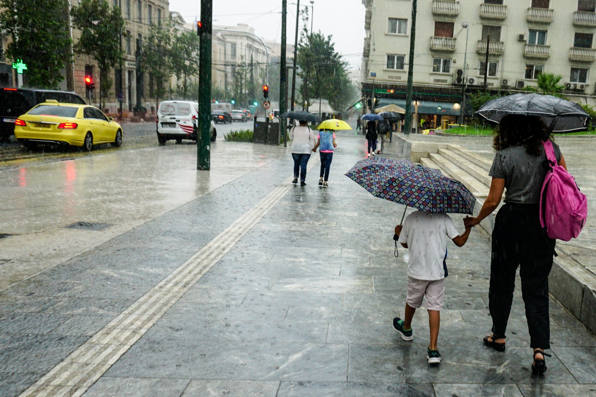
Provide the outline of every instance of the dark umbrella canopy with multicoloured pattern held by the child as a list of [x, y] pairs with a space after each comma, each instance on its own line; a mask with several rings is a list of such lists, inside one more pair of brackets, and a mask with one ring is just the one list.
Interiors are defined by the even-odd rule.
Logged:
[[467, 213], [476, 198], [439, 170], [405, 161], [390, 166], [361, 160], [346, 175], [375, 197], [433, 213]]

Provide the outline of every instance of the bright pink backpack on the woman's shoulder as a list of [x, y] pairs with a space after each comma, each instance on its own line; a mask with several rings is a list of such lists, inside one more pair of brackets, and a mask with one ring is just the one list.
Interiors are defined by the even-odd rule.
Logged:
[[548, 237], [569, 241], [578, 237], [586, 224], [588, 200], [573, 176], [557, 164], [551, 140], [542, 144], [551, 168], [540, 194], [540, 224], [547, 228]]

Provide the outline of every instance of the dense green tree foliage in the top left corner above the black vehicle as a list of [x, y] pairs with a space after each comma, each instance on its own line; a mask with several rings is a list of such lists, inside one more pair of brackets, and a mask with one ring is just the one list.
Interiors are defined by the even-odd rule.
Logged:
[[0, 29], [13, 38], [7, 57], [27, 64], [27, 85], [58, 88], [72, 59], [68, 0], [0, 0]]

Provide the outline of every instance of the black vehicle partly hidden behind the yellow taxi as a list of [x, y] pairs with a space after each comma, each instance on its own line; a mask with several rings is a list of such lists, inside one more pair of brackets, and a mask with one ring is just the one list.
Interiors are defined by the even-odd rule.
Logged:
[[14, 122], [21, 114], [45, 100], [84, 105], [83, 98], [74, 92], [49, 89], [0, 88], [0, 142], [8, 141], [14, 134]]

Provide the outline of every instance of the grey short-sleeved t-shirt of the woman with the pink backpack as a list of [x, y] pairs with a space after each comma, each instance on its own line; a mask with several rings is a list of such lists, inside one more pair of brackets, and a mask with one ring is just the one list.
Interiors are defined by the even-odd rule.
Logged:
[[[552, 142], [557, 162], [561, 160], [561, 150]], [[534, 156], [523, 146], [510, 146], [495, 154], [489, 175], [505, 179], [505, 203], [538, 204], [542, 183], [547, 169], [542, 163], [547, 159], [544, 149], [540, 156]]]

